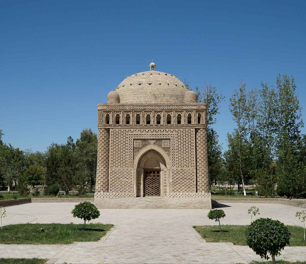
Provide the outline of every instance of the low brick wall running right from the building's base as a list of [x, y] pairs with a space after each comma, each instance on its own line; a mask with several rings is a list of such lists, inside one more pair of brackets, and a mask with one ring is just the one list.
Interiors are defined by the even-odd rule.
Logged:
[[284, 198], [224, 198], [211, 200], [212, 207], [220, 207], [218, 204], [226, 203], [285, 204], [306, 208], [306, 200], [289, 200]]

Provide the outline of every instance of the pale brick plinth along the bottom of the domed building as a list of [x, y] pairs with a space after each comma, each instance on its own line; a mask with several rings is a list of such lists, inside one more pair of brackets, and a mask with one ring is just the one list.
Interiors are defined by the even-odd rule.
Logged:
[[[119, 197], [118, 197], [119, 196]], [[96, 193], [99, 209], [211, 209], [210, 193], [167, 193], [156, 197], [136, 194]]]

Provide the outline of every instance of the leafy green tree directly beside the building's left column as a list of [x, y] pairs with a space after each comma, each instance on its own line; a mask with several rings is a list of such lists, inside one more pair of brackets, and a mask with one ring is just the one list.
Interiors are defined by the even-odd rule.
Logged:
[[86, 128], [81, 132], [80, 139], [76, 140], [73, 153], [77, 162], [76, 170], [84, 173], [92, 189], [92, 186], [95, 185], [97, 171], [98, 138], [91, 128]]

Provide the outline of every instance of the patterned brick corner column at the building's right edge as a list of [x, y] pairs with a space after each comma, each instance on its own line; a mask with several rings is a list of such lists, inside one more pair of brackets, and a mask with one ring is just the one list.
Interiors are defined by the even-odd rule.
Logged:
[[207, 193], [209, 186], [209, 179], [208, 179], [206, 128], [196, 128], [196, 177], [197, 177], [197, 192]]

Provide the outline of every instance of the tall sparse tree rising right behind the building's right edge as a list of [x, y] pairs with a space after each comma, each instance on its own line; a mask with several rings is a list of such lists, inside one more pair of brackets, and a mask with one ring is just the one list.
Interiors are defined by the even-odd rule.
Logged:
[[[189, 88], [188, 83], [187, 87]], [[219, 166], [218, 163], [222, 154], [222, 147], [218, 141], [219, 135], [213, 128], [213, 125], [217, 122], [217, 115], [220, 114], [220, 105], [225, 97], [222, 93], [217, 92], [216, 87], [212, 87], [206, 83], [202, 90], [196, 87], [196, 93], [198, 103], [207, 103], [207, 158], [211, 184], [211, 182], [214, 182], [218, 177], [218, 170], [216, 170], [216, 168]]]

